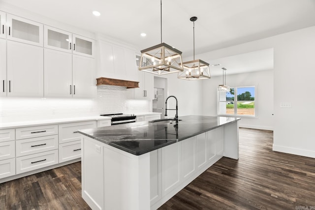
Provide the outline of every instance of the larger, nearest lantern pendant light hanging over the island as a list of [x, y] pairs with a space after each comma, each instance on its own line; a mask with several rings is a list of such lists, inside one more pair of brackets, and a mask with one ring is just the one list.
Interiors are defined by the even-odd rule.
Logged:
[[162, 43], [162, 0], [161, 0], [161, 43], [141, 50], [140, 71], [163, 75], [183, 71], [182, 52]]

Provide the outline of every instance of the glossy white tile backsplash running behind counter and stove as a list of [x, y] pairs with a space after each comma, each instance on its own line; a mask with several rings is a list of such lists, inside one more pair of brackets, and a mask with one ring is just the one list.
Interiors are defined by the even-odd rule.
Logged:
[[0, 122], [152, 112], [152, 101], [128, 99], [130, 91], [118, 86], [97, 86], [95, 99], [0, 98]]

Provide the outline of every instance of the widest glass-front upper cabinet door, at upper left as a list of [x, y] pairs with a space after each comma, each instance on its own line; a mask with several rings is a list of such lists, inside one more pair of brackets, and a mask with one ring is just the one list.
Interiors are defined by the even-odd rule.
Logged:
[[24, 19], [11, 14], [7, 18], [7, 39], [43, 46], [43, 24]]

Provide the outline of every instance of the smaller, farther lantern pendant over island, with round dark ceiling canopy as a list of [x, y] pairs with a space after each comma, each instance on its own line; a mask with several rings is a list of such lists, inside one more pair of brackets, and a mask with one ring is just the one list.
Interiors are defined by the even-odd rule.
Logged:
[[195, 21], [197, 17], [191, 17], [193, 22], [193, 60], [183, 62], [184, 72], [178, 73], [179, 79], [184, 80], [201, 80], [210, 78], [209, 63], [203, 60], [195, 60]]

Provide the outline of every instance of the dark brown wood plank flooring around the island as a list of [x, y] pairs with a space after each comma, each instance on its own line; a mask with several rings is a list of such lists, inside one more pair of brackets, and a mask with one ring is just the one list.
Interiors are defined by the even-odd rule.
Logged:
[[[221, 158], [159, 209], [315, 209], [314, 158], [272, 151], [271, 131], [239, 134], [239, 160]], [[0, 210], [71, 209], [90, 209], [81, 162], [0, 184]]]

